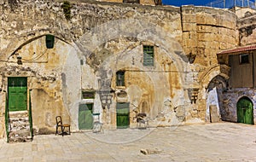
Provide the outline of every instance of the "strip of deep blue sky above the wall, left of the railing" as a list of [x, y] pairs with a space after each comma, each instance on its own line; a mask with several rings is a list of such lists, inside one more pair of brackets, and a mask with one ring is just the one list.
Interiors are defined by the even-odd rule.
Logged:
[[162, 0], [164, 4], [173, 6], [181, 6], [187, 4], [194, 4], [195, 6], [205, 6], [207, 3], [211, 3], [214, 0]]

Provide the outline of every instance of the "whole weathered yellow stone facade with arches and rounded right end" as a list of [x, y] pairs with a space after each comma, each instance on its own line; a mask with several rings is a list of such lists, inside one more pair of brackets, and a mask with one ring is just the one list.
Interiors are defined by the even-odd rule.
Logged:
[[[93, 103], [104, 128], [116, 128], [116, 105], [130, 103], [152, 126], [207, 119], [207, 87], [220, 73], [216, 54], [236, 47], [236, 14], [224, 9], [70, 1], [1, 1], [1, 136], [9, 77], [26, 77], [34, 134], [55, 131], [61, 115], [79, 130], [79, 105]], [[46, 35], [55, 36], [53, 49]], [[154, 66], [143, 66], [143, 45]], [[22, 65], [17, 64], [21, 57]], [[116, 86], [116, 72], [125, 86]], [[82, 91], [95, 91], [82, 99]]]

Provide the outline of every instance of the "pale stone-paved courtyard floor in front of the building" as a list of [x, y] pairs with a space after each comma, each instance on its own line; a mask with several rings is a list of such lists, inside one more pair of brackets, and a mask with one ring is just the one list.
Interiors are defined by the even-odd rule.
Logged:
[[[256, 161], [256, 126], [218, 123], [84, 131], [0, 144], [1, 161]], [[141, 149], [160, 153], [145, 155]]]

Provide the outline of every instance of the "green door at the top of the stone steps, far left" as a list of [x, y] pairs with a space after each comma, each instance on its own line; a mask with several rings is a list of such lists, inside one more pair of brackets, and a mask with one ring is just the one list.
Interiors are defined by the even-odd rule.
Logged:
[[27, 79], [25, 77], [8, 78], [9, 111], [23, 111], [27, 107]]

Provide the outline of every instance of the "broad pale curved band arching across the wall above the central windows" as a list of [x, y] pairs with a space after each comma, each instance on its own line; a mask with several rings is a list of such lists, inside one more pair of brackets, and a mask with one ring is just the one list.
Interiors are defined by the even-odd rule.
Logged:
[[[124, 26], [138, 26], [137, 28], [129, 28]], [[157, 36], [157, 37], [155, 37]], [[184, 54], [182, 46], [175, 39], [175, 35], [167, 32], [164, 28], [157, 26], [148, 20], [113, 20], [96, 26], [82, 36], [77, 42], [77, 45], [84, 55], [93, 54], [94, 49], [102, 43], [108, 42], [115, 38], [137, 38], [141, 41], [148, 41], [150, 43], [161, 46], [168, 51], [173, 63], [177, 67], [178, 72], [181, 73], [181, 80], [184, 83], [186, 74], [184, 71], [189, 70], [187, 55]], [[94, 41], [92, 42], [92, 38]], [[171, 43], [171, 45], [170, 45]], [[175, 47], [175, 48], [173, 48]]]

